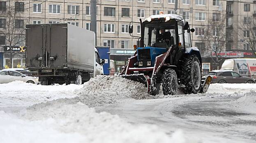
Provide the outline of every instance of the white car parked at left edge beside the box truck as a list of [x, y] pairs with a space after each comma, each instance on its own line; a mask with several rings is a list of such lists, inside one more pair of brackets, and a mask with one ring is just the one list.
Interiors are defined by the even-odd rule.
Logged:
[[38, 78], [32, 76], [25, 76], [18, 71], [14, 70], [1, 70], [0, 71], [0, 83], [10, 83], [12, 81], [20, 80], [25, 83], [39, 84]]

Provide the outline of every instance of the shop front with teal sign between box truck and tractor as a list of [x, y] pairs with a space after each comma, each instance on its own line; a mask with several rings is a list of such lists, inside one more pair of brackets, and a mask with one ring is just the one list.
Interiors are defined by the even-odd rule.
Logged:
[[120, 73], [122, 67], [128, 61], [128, 58], [133, 56], [135, 50], [133, 49], [110, 49], [110, 59], [114, 61], [113, 67], [115, 68], [115, 73]]

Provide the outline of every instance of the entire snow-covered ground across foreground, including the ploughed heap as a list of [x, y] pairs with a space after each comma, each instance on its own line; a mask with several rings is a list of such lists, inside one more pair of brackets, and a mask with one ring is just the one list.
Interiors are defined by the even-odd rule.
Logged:
[[206, 94], [176, 96], [145, 90], [113, 76], [82, 86], [1, 84], [0, 141], [256, 143], [256, 84], [212, 84]]

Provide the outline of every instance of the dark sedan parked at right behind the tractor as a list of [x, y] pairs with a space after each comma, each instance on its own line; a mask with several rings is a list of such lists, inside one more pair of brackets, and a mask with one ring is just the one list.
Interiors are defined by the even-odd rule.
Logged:
[[[231, 70], [214, 70], [210, 71], [208, 76], [212, 77], [211, 83], [256, 83], [254, 78], [240, 76], [240, 74]], [[202, 77], [202, 80], [206, 76]]]

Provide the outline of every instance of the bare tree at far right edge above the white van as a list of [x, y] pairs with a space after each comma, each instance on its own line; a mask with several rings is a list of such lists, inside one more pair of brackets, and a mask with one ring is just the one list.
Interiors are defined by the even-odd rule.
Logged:
[[[252, 20], [251, 20], [252, 19]], [[251, 50], [256, 57], [256, 24], [253, 17], [244, 17], [240, 23], [239, 33], [243, 36], [244, 50]]]

